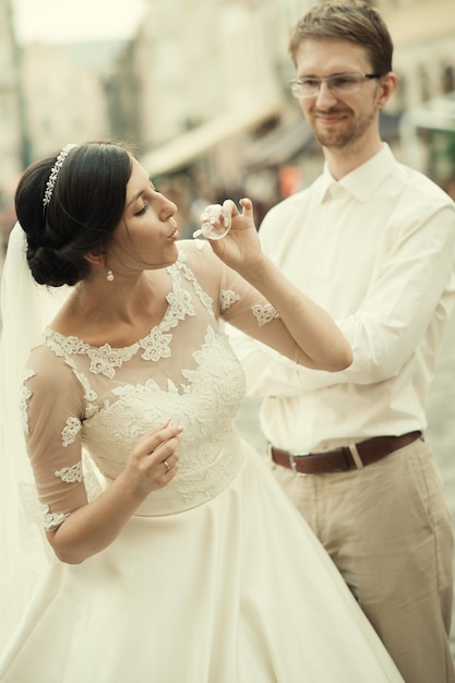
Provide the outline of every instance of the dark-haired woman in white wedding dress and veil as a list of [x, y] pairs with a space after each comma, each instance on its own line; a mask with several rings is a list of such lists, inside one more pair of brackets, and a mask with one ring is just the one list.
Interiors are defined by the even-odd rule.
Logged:
[[[221, 321], [298, 364], [350, 349], [262, 254], [216, 242], [133, 153], [68, 145], [16, 192], [3, 269], [3, 683], [399, 683], [302, 517], [236, 431]], [[25, 455], [27, 453], [27, 457]]]

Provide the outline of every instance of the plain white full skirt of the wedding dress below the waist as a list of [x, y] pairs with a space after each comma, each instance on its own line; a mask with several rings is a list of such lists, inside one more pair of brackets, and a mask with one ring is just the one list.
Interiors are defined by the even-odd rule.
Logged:
[[0, 658], [2, 683], [398, 683], [372, 626], [260, 456], [216, 498], [134, 516], [57, 560]]

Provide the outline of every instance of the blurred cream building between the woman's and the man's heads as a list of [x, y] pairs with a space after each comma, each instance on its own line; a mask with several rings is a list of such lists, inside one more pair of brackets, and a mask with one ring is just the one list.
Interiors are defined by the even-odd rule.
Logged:
[[[154, 177], [243, 180], [243, 152], [280, 116], [275, 0], [149, 0], [116, 73], [118, 100]], [[166, 31], [163, 27], [166, 26]], [[118, 105], [116, 104], [117, 108]]]

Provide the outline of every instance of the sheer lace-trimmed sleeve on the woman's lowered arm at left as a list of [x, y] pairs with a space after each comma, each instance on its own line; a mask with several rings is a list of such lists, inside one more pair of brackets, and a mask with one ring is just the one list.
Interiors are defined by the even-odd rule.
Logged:
[[23, 428], [46, 530], [87, 502], [82, 470], [84, 396], [48, 348], [32, 351], [23, 384]]

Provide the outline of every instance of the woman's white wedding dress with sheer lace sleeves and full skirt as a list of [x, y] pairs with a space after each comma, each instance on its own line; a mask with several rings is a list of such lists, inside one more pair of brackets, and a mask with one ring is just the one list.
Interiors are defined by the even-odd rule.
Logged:
[[328, 555], [236, 431], [243, 373], [218, 314], [265, 339], [273, 309], [205, 242], [182, 243], [167, 273], [167, 312], [136, 344], [95, 348], [47, 328], [32, 352], [22, 408], [46, 528], [108, 487], [153, 426], [184, 429], [177, 476], [111, 546], [77, 565], [47, 558], [0, 681], [399, 683]]

